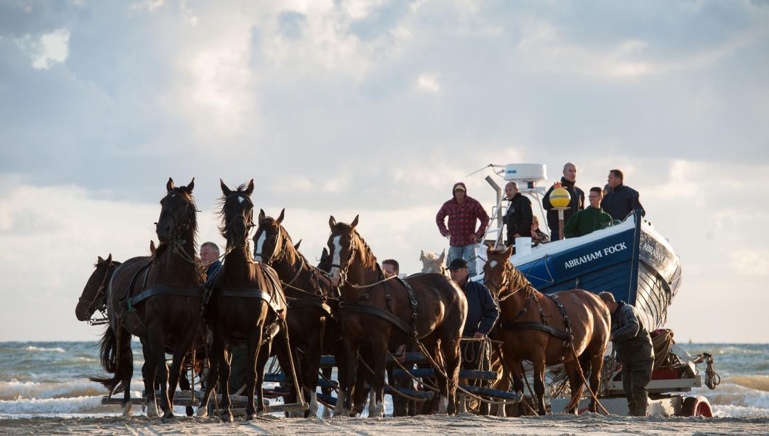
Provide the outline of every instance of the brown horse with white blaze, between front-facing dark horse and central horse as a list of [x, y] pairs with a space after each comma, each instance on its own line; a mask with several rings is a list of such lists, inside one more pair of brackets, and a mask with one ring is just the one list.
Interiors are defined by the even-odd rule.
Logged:
[[304, 358], [297, 356], [301, 372], [301, 388], [309, 396], [310, 408], [305, 416], [318, 414], [318, 368], [324, 346], [328, 348], [338, 336], [333, 311], [338, 304], [331, 281], [320, 269], [311, 266], [299, 253], [299, 243], [281, 224], [285, 209], [277, 219], [260, 210], [254, 233], [254, 258], [275, 269], [288, 300], [288, 337]]

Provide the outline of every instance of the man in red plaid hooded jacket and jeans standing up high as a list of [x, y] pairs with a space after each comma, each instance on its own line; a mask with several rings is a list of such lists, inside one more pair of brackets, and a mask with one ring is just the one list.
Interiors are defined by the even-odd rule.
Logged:
[[[465, 259], [469, 262], [470, 276], [475, 275], [475, 244], [483, 239], [488, 226], [488, 214], [481, 203], [468, 197], [468, 188], [464, 183], [454, 183], [451, 189], [452, 198], [443, 203], [435, 222], [442, 236], [449, 236], [448, 263], [454, 259]], [[448, 229], [444, 220], [448, 216]], [[481, 221], [481, 226], [475, 230], [475, 221]]]

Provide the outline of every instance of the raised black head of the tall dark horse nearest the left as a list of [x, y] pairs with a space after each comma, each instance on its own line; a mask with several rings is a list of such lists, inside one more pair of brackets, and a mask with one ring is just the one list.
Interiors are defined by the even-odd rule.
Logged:
[[155, 224], [155, 233], [161, 243], [173, 243], [185, 231], [197, 230], [198, 223], [195, 220], [197, 210], [195, 200], [192, 198], [194, 187], [195, 177], [187, 186], [181, 187], [174, 187], [174, 180], [168, 177], [168, 183], [165, 185], [167, 192], [160, 200], [160, 218]]

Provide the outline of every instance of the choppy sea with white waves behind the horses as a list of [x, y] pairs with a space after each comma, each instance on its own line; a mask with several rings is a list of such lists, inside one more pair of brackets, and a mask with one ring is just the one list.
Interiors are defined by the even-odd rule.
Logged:
[[[141, 345], [133, 344], [131, 395], [141, 396]], [[721, 385], [695, 388], [719, 417], [769, 417], [769, 344], [681, 344], [691, 355], [714, 355]], [[704, 373], [704, 365], [700, 365]], [[102, 405], [103, 375], [96, 342], [0, 342], [0, 419], [35, 416], [75, 418], [120, 415], [118, 405]], [[389, 399], [389, 398], [388, 398]], [[390, 407], [388, 407], [391, 410]], [[183, 408], [175, 408], [183, 415]], [[134, 407], [141, 414], [141, 407]]]

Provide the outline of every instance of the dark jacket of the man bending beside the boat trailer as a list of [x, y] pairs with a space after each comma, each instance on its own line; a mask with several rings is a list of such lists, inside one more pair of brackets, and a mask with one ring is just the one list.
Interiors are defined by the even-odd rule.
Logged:
[[611, 314], [611, 335], [620, 362], [631, 363], [654, 358], [651, 335], [644, 327], [638, 311], [624, 301], [617, 303]]

